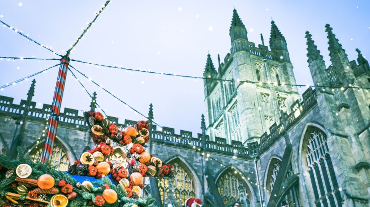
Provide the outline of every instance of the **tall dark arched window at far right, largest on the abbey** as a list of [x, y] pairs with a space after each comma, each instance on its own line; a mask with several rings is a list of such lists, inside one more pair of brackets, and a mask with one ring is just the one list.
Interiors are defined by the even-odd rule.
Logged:
[[311, 181], [316, 206], [342, 206], [338, 182], [326, 143], [326, 134], [311, 129], [306, 147], [306, 163], [308, 177]]

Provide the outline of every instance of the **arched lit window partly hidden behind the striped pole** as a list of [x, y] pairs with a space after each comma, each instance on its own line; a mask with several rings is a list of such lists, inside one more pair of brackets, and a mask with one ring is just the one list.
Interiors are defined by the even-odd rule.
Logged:
[[[42, 146], [39, 144], [30, 153], [33, 162], [41, 161]], [[52, 166], [59, 166], [56, 169], [59, 171], [68, 171], [69, 158], [65, 151], [59, 146], [59, 143], [54, 143], [53, 154], [51, 155], [50, 163]]]

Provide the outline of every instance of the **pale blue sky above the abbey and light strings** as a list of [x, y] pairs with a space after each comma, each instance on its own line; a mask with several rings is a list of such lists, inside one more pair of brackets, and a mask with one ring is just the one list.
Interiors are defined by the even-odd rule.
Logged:
[[[29, 34], [43, 45], [64, 55], [94, 19], [105, 1], [5, 1], [0, 20]], [[331, 63], [327, 51], [325, 24], [330, 24], [349, 60], [357, 58], [355, 48], [370, 57], [369, 1], [118, 1], [112, 0], [85, 38], [70, 55], [71, 59], [117, 65], [125, 68], [202, 76], [207, 53], [217, 67], [230, 52], [229, 28], [234, 7], [248, 30], [248, 39], [268, 45], [271, 18], [284, 35], [298, 84], [312, 84], [307, 63], [306, 30]], [[58, 58], [26, 38], [0, 28], [0, 56]], [[369, 58], [367, 58], [369, 59]], [[2, 60], [0, 85], [55, 65], [58, 61]], [[147, 115], [154, 105], [160, 125], [199, 133], [200, 116], [205, 112], [203, 81], [179, 77], [131, 73], [119, 69], [97, 68], [71, 62], [93, 80], [127, 104]], [[37, 103], [51, 104], [57, 68], [35, 76]], [[62, 108], [88, 110], [90, 97], [75, 78], [66, 79]], [[84, 81], [90, 92], [98, 93], [98, 103], [110, 116], [141, 120], [101, 88]], [[25, 99], [30, 81], [0, 91], [0, 95]], [[305, 88], [300, 89], [300, 93]], [[38, 105], [37, 105], [38, 106]], [[41, 108], [42, 106], [38, 106]], [[196, 136], [194, 134], [194, 136]]]

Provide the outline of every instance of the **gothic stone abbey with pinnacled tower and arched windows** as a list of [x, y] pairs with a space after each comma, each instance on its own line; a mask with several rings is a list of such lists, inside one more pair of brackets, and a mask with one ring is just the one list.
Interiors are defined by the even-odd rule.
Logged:
[[[153, 126], [150, 152], [178, 171], [171, 180], [147, 180], [147, 191], [161, 197], [158, 206], [182, 206], [188, 197], [215, 207], [236, 200], [243, 206], [370, 206], [370, 92], [363, 88], [370, 87], [370, 67], [358, 49], [357, 62], [349, 61], [325, 27], [329, 67], [306, 32], [314, 84], [325, 87], [308, 88], [301, 98], [275, 23], [270, 50], [263, 38], [256, 47], [234, 10], [230, 53], [223, 63], [218, 56], [218, 68], [209, 54], [206, 60], [203, 134]], [[14, 157], [19, 145], [40, 159], [50, 105], [36, 108], [34, 91], [35, 81], [20, 104], [0, 96], [1, 153]], [[136, 123], [108, 118], [121, 129]], [[88, 130], [78, 110], [60, 114], [52, 154], [59, 170], [93, 145]], [[115, 149], [108, 159], [123, 159], [127, 149]]]

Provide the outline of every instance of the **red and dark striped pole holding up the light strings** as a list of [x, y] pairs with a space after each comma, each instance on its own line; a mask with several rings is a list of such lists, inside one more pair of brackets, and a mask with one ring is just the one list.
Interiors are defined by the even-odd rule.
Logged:
[[59, 67], [58, 78], [56, 80], [56, 86], [54, 91], [53, 103], [51, 105], [51, 113], [49, 118], [49, 125], [47, 127], [45, 146], [42, 150], [41, 162], [50, 159], [53, 153], [54, 140], [56, 135], [56, 128], [58, 127], [59, 112], [61, 106], [61, 100], [63, 97], [64, 83], [68, 70], [69, 58], [63, 57]]

